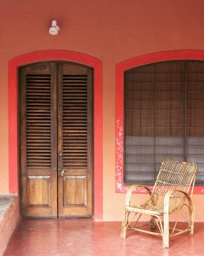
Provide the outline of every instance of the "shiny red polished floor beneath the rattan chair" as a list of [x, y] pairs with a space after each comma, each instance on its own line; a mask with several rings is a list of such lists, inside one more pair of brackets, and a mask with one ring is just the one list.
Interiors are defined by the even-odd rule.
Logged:
[[195, 224], [195, 235], [174, 237], [170, 248], [161, 238], [129, 233], [120, 238], [121, 223], [92, 219], [22, 219], [3, 256], [137, 256], [204, 255], [204, 224]]

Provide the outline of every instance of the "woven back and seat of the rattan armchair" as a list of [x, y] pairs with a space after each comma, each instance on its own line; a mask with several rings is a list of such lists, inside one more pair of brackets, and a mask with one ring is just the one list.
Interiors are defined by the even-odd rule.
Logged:
[[[192, 194], [197, 165], [175, 160], [164, 160], [156, 177], [156, 183], [150, 196], [151, 208], [161, 211], [164, 207], [164, 196], [170, 189], [182, 190]], [[170, 212], [175, 211], [183, 204], [184, 195], [174, 192], [170, 200]]]

